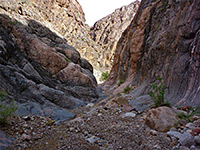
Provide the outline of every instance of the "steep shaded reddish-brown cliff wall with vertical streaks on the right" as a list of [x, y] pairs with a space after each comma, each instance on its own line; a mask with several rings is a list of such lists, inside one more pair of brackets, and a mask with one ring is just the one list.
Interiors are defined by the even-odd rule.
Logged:
[[143, 0], [116, 48], [102, 85], [114, 93], [126, 86], [147, 94], [161, 76], [172, 104], [200, 104], [200, 1]]

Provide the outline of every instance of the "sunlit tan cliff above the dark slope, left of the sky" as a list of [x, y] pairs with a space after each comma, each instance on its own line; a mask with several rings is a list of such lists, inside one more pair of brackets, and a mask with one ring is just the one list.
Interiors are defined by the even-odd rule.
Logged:
[[2, 0], [0, 5], [2, 14], [12, 18], [18, 17], [18, 20], [37, 20], [60, 37], [67, 39], [67, 43], [92, 64], [97, 79], [102, 71], [111, 67], [106, 64], [105, 58], [101, 57], [101, 46], [90, 38], [90, 28], [85, 24], [85, 15], [77, 0]]

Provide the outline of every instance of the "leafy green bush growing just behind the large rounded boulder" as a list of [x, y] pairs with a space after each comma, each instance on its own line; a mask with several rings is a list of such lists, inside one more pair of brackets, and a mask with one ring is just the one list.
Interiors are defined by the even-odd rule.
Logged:
[[165, 86], [162, 78], [158, 77], [158, 84], [152, 84], [152, 91], [149, 92], [149, 96], [154, 101], [155, 107], [170, 106], [169, 102], [165, 102]]

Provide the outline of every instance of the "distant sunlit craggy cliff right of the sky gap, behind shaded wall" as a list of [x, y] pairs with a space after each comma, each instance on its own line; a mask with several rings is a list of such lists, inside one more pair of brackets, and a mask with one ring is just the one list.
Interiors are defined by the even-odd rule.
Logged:
[[117, 42], [124, 30], [133, 20], [140, 2], [135, 1], [127, 6], [118, 8], [112, 14], [97, 21], [90, 29], [92, 39], [103, 47], [106, 64], [112, 67]]

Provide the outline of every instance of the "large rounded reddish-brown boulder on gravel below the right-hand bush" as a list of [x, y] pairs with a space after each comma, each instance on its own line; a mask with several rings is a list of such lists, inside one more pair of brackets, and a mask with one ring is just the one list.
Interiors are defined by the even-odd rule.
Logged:
[[145, 123], [160, 132], [169, 131], [177, 122], [177, 114], [170, 107], [158, 107], [150, 109], [145, 118]]

